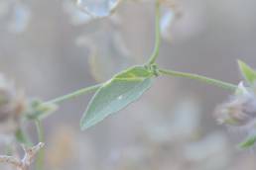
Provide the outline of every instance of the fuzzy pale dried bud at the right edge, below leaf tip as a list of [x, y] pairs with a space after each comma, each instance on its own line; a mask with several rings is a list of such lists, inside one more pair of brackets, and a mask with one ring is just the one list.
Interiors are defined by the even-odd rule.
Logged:
[[216, 116], [220, 124], [243, 131], [246, 138], [239, 143], [240, 148], [252, 147], [256, 142], [256, 86], [245, 88], [239, 84], [231, 100], [218, 107]]

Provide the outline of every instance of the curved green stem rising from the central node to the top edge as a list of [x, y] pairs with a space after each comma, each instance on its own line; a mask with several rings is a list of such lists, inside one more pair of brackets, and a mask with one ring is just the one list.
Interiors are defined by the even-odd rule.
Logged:
[[148, 61], [148, 65], [152, 65], [156, 62], [157, 57], [159, 56], [159, 48], [161, 43], [161, 35], [160, 35], [160, 2], [156, 0], [156, 21], [155, 21], [155, 47], [153, 53], [150, 56]]

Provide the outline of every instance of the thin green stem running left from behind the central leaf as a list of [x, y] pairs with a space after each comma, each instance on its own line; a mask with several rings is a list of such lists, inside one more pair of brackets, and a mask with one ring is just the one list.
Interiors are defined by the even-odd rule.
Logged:
[[58, 97], [56, 99], [53, 99], [51, 101], [48, 101], [46, 103], [52, 103], [52, 104], [60, 104], [66, 100], [69, 100], [69, 99], [73, 99], [73, 98], [76, 98], [78, 96], [81, 96], [81, 95], [85, 95], [87, 93], [90, 93], [90, 92], [94, 92], [96, 91], [98, 88], [100, 88], [102, 86], [102, 84], [97, 84], [97, 85], [94, 85], [94, 86], [90, 86], [90, 87], [85, 87], [85, 88], [82, 88], [82, 89], [79, 89], [77, 91], [74, 91], [74, 92], [71, 92], [69, 94], [66, 94], [64, 96], [61, 96], [61, 97]]

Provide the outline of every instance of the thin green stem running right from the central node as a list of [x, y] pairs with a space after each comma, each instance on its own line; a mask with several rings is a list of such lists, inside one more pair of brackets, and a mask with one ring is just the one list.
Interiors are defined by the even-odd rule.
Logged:
[[207, 84], [215, 85], [224, 89], [228, 89], [231, 91], [235, 91], [237, 86], [223, 82], [221, 80], [216, 80], [212, 78], [208, 78], [205, 76], [197, 75], [197, 74], [192, 74], [192, 73], [187, 73], [187, 72], [180, 72], [180, 71], [173, 71], [173, 70], [166, 70], [166, 69], [159, 69], [158, 70], [160, 73], [165, 74], [165, 75], [171, 75], [171, 76], [176, 76], [176, 77], [185, 77], [185, 78], [190, 78], [193, 80], [198, 80]]

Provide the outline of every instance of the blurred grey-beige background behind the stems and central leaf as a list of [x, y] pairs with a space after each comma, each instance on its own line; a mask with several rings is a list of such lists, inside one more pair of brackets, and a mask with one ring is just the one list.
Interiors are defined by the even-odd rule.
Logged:
[[[158, 63], [238, 83], [236, 59], [256, 67], [254, 0], [177, 0], [180, 17]], [[143, 63], [154, 45], [152, 1], [124, 1], [111, 18], [88, 22], [68, 0], [0, 0], [0, 71], [30, 97], [50, 100]], [[170, 35], [169, 35], [170, 36]], [[160, 77], [138, 102], [86, 131], [87, 95], [44, 122], [47, 169], [253, 170], [238, 132], [213, 118], [230, 92]], [[35, 127], [27, 127], [37, 136]]]

